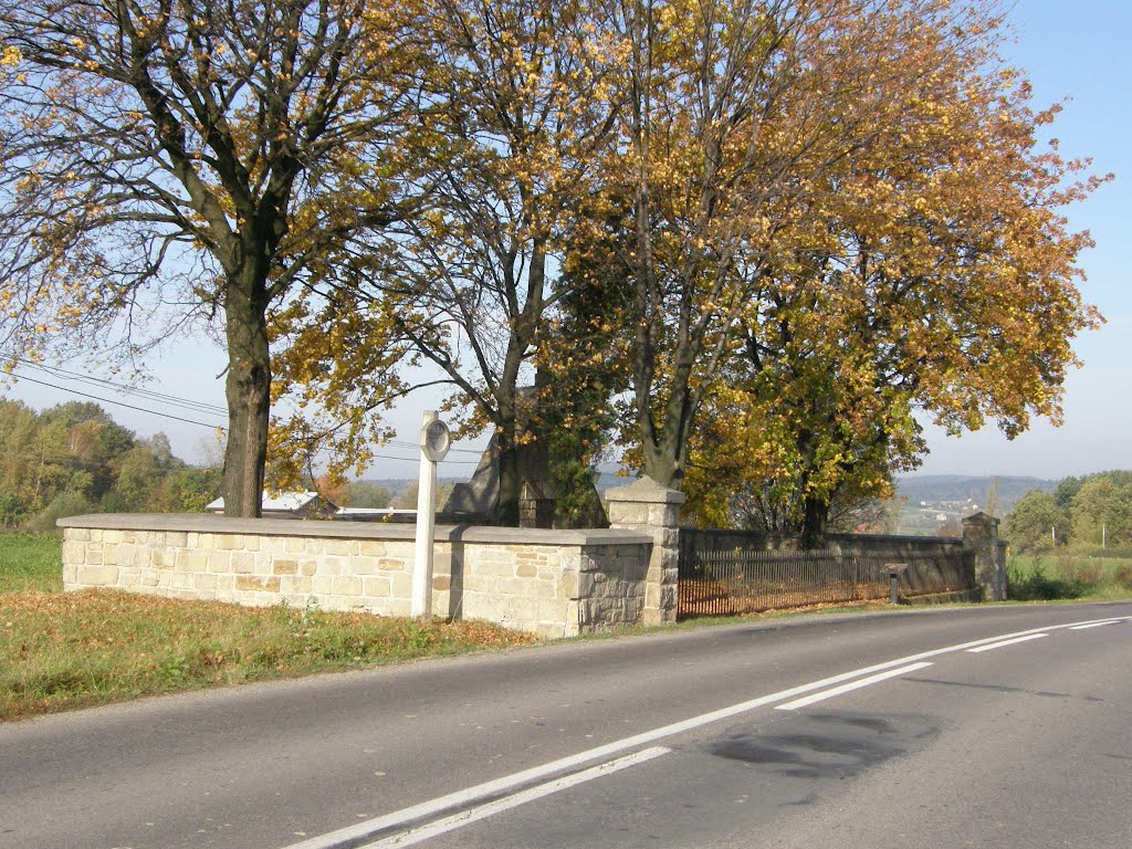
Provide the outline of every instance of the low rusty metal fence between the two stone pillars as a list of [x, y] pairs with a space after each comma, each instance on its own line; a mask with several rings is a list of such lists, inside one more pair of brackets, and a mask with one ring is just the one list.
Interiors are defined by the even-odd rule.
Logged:
[[[681, 546], [677, 615], [728, 616], [812, 604], [887, 599], [892, 557], [826, 551], [701, 549]], [[903, 597], [969, 590], [967, 551], [900, 558]]]

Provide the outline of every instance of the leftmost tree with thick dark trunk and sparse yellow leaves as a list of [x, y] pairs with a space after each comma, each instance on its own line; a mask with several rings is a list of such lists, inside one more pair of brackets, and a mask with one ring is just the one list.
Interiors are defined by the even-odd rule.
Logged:
[[158, 336], [220, 320], [225, 504], [258, 515], [268, 320], [397, 215], [413, 17], [365, 0], [0, 2], [7, 368], [48, 334], [134, 357], [147, 320]]

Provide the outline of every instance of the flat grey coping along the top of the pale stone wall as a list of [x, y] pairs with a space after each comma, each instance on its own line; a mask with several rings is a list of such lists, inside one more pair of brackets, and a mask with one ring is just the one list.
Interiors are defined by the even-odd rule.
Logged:
[[[305, 537], [349, 540], [414, 540], [415, 524], [349, 522], [311, 518], [234, 518], [199, 513], [95, 513], [68, 516], [59, 528], [102, 531], [186, 531], [192, 533]], [[652, 534], [621, 529], [555, 531], [541, 528], [437, 525], [437, 542], [481, 542], [534, 546], [652, 544]]]

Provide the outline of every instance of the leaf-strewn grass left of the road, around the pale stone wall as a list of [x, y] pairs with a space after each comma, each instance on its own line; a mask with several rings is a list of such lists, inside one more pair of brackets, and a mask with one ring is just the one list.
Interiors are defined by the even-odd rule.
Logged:
[[0, 721], [534, 642], [479, 621], [63, 593], [60, 571], [58, 537], [0, 535]]

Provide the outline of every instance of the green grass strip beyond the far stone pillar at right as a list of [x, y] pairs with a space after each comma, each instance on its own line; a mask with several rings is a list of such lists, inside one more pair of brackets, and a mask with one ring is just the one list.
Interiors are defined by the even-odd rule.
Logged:
[[1071, 554], [1017, 556], [1006, 564], [1011, 601], [1132, 598], [1132, 558]]

